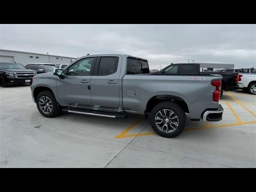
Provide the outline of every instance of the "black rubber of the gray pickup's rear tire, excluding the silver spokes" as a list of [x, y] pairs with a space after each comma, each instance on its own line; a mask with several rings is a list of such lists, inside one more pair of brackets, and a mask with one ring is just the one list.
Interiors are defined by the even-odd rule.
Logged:
[[[162, 130], [160, 130], [160, 129], [157, 127], [157, 125], [156, 125], [156, 120], [155, 120], [156, 115], [157, 115], [157, 114], [159, 115], [158, 112], [160, 112], [161, 110], [164, 110], [164, 109], [167, 110], [166, 116], [168, 116], [168, 114], [167, 114], [167, 113], [168, 113], [168, 110], [174, 112], [174, 115], [177, 116], [177, 118], [178, 118], [178, 126], [176, 126], [176, 129], [175, 129], [175, 130], [174, 130], [173, 128], [172, 128], [172, 130], [169, 129], [169, 128], [166, 128], [166, 131], [164, 131], [164, 128], [162, 128]], [[170, 120], [170, 118], [169, 118], [169, 120]], [[169, 121], [169, 120], [168, 120], [168, 122], [172, 122], [172, 121]], [[158, 120], [157, 120], [157, 121], [158, 121]], [[177, 119], [176, 119], [176, 121], [177, 121]], [[169, 127], [170, 127], [170, 124], [171, 124], [171, 123], [168, 123], [168, 122], [166, 121], [166, 123], [169, 124]], [[163, 122], [163, 123], [164, 123], [164, 122]], [[176, 122], [176, 123], [177, 123], [177, 122]], [[160, 136], [162, 136], [162, 137], [172, 138], [172, 137], [178, 136], [178, 135], [181, 134], [182, 131], [184, 130], [185, 124], [186, 124], [186, 115], [185, 115], [184, 110], [183, 110], [178, 104], [176, 104], [176, 103], [174, 103], [174, 102], [169, 102], [169, 101], [167, 101], [167, 102], [161, 102], [161, 103], [157, 104], [157, 105], [152, 109], [152, 111], [151, 111], [151, 113], [150, 113], [150, 124], [151, 124], [153, 130], [154, 130], [158, 135], [160, 135]], [[163, 126], [163, 127], [164, 127], [164, 126]], [[168, 127], [168, 126], [167, 126], [167, 127]], [[172, 131], [172, 132], [169, 132], [169, 131], [167, 131], [167, 130]]]

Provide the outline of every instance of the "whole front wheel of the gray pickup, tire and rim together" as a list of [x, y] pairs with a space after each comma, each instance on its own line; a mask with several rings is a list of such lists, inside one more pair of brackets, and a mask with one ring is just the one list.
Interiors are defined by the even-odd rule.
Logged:
[[52, 118], [60, 114], [58, 103], [50, 91], [40, 92], [36, 98], [38, 111], [45, 117]]

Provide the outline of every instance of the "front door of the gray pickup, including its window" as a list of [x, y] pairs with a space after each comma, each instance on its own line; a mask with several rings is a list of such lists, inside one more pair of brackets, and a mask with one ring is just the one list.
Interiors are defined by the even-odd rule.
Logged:
[[64, 78], [57, 78], [57, 92], [62, 105], [92, 107], [91, 78], [96, 58], [83, 58], [64, 71]]

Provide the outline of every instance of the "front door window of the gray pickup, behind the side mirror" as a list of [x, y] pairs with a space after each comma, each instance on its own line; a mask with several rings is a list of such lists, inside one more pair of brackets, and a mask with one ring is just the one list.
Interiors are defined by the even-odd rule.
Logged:
[[[82, 59], [68, 68], [68, 75], [90, 75], [94, 57]], [[66, 70], [65, 70], [66, 71]]]

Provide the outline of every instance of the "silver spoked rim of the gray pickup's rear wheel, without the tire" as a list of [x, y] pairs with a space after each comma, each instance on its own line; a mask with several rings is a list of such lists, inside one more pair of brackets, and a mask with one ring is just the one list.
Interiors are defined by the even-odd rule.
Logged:
[[171, 133], [176, 130], [179, 125], [178, 116], [169, 109], [163, 109], [157, 112], [155, 116], [156, 127], [166, 133]]

